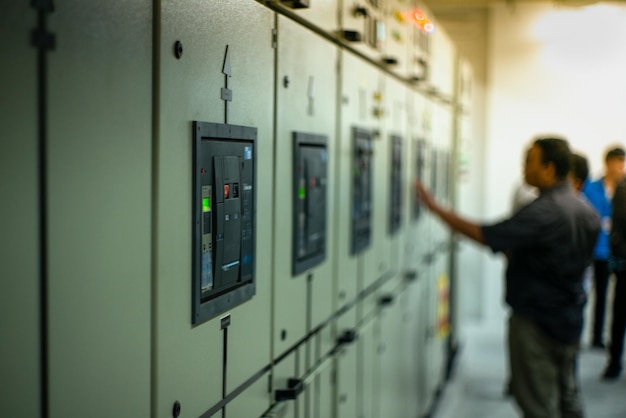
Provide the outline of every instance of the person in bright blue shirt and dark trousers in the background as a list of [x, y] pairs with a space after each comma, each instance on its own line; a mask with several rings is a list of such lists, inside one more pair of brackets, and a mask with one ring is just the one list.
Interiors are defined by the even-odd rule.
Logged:
[[611, 274], [609, 270], [609, 233], [611, 231], [611, 200], [615, 187], [624, 178], [623, 148], [610, 149], [604, 158], [604, 176], [587, 183], [583, 194], [602, 219], [602, 229], [593, 252], [593, 287], [592, 301], [593, 325], [591, 346], [604, 348], [604, 316], [606, 311], [606, 289]]

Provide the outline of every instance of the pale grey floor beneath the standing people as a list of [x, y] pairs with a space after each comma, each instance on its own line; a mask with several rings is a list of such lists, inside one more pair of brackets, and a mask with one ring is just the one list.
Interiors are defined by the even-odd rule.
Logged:
[[[446, 386], [432, 418], [518, 418], [506, 380], [505, 324], [465, 329], [454, 377]], [[626, 417], [626, 376], [605, 382], [600, 375], [606, 352], [583, 346], [580, 381], [588, 418]]]

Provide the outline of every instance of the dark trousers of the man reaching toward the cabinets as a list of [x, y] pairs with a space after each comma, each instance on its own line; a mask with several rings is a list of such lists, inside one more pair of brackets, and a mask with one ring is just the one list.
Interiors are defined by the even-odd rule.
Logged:
[[562, 344], [532, 321], [509, 319], [511, 389], [524, 418], [582, 418], [574, 378], [578, 344]]

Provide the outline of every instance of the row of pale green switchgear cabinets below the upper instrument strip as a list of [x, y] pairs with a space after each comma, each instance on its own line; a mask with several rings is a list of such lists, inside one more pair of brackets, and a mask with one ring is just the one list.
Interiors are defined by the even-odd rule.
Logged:
[[[33, 10], [11, 10], [8, 40], [35, 24]], [[371, 365], [385, 364], [370, 361], [384, 357], [382, 342], [437, 376], [435, 284], [447, 262], [424, 260], [448, 238], [419, 214], [411, 183], [450, 195], [450, 107], [254, 1], [162, 2], [157, 14], [148, 1], [70, 2], [48, 26], [57, 45], [38, 81], [48, 94], [42, 142], [36, 49], [16, 41], [16, 65], [0, 77], [19, 98], [2, 101], [15, 115], [1, 153], [15, 179], [3, 183], [2, 216], [9, 411], [194, 417], [217, 406], [260, 416], [289, 378], [311, 372], [292, 416], [369, 416], [356, 394], [373, 392], [361, 382], [395, 382], [385, 373], [403, 365]], [[296, 181], [305, 166], [313, 175]], [[369, 242], [355, 250], [366, 218]], [[420, 284], [404, 284], [407, 272]], [[389, 294], [406, 301], [387, 314], [379, 303]], [[430, 348], [426, 337], [402, 342], [401, 323], [430, 335]], [[342, 370], [349, 377], [338, 380]], [[423, 408], [439, 379], [421, 379]], [[374, 410], [397, 403], [379, 399]]]

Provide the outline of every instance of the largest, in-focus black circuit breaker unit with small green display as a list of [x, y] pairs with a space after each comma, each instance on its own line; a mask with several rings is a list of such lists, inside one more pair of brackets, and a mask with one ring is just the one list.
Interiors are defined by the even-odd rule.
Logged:
[[193, 122], [192, 323], [255, 293], [256, 128]]

